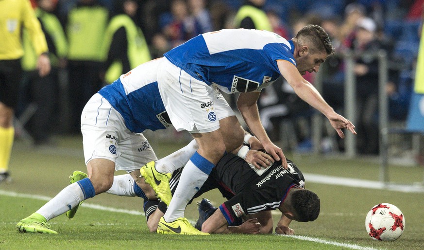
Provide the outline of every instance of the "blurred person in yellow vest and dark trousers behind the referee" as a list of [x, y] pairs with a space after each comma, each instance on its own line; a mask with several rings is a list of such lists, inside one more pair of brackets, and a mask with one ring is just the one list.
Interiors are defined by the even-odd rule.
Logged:
[[[55, 9], [55, 0], [37, 0], [38, 7], [35, 15], [41, 23], [41, 28], [46, 36], [51, 61], [51, 71], [45, 76], [40, 76], [36, 69], [36, 54], [28, 30], [24, 29], [22, 42], [24, 56], [22, 68], [25, 71], [22, 83], [20, 106], [21, 109], [28, 104], [35, 104], [34, 114], [27, 124], [28, 131], [34, 139], [35, 145], [49, 143], [50, 135], [55, 125], [53, 118], [58, 107], [58, 71], [66, 64], [68, 42], [59, 19], [51, 14]], [[23, 110], [21, 110], [23, 111]], [[56, 124], [57, 125], [57, 124]]]

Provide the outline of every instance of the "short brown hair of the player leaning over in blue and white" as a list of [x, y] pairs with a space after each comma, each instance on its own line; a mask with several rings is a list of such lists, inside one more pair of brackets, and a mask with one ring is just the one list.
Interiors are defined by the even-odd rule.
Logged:
[[294, 37], [300, 45], [310, 44], [310, 50], [324, 52], [328, 55], [334, 52], [330, 37], [319, 25], [308, 24]]

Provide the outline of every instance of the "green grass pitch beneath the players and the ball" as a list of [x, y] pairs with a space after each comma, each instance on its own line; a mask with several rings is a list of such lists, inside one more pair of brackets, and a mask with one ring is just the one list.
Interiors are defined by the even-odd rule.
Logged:
[[[149, 137], [148, 137], [149, 138]], [[183, 144], [152, 143], [158, 157]], [[376, 180], [378, 162], [367, 159], [339, 160], [321, 156], [287, 155], [304, 173]], [[102, 194], [85, 201], [75, 217], [52, 219], [50, 234], [17, 232], [16, 223], [46, 203], [68, 185], [74, 170], [86, 171], [82, 139], [60, 138], [54, 148], [34, 148], [17, 142], [10, 172], [14, 181], [0, 184], [0, 249], [423, 249], [424, 194], [346, 187], [308, 182], [306, 188], [321, 198], [321, 214], [314, 222], [293, 222], [291, 228], [303, 238], [277, 235], [185, 236], [150, 233], [139, 198]], [[118, 174], [124, 174], [119, 172]], [[422, 167], [390, 167], [390, 179], [405, 183], [422, 181]], [[16, 195], [16, 196], [14, 196]], [[204, 195], [215, 205], [222, 202], [217, 192]], [[200, 200], [200, 199], [199, 199]], [[399, 207], [406, 228], [395, 242], [378, 242], [365, 231], [365, 216], [373, 205], [388, 202]], [[125, 209], [118, 213], [93, 209], [92, 205]], [[125, 211], [124, 211], [125, 212]], [[195, 221], [195, 205], [186, 216]], [[274, 227], [279, 215], [274, 215]], [[307, 236], [307, 237], [306, 237]]]

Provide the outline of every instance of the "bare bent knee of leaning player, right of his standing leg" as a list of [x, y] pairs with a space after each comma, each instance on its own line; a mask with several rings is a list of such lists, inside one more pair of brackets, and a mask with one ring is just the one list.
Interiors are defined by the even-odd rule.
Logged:
[[243, 143], [244, 130], [236, 116], [233, 115], [221, 119], [220, 131], [227, 152], [232, 152]]

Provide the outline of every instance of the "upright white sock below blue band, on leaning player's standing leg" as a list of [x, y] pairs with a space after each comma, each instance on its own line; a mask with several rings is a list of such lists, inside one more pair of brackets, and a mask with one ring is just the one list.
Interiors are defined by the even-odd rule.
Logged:
[[193, 162], [187, 162], [181, 173], [177, 189], [164, 215], [166, 222], [172, 222], [179, 217], [184, 217], [184, 210], [188, 202], [203, 186], [207, 178], [208, 175], [196, 167]]

